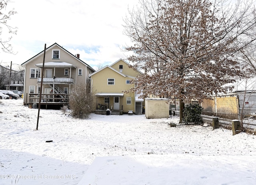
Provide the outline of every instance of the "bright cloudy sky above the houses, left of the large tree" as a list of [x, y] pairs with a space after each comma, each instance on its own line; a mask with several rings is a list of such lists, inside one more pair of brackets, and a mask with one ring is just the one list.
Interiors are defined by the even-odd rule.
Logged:
[[80, 54], [80, 59], [94, 68], [126, 58], [127, 53], [121, 50], [130, 44], [130, 38], [123, 34], [123, 18], [138, 0], [12, 1], [7, 9], [18, 13], [8, 24], [18, 27], [18, 32], [9, 44], [17, 54], [1, 50], [1, 65], [8, 66], [11, 61], [22, 64], [42, 52], [44, 44], [49, 47], [55, 42], [74, 55]]

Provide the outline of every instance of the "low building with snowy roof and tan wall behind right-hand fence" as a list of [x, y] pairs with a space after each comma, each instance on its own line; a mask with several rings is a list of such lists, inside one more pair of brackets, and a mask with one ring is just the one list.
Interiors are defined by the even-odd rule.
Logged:
[[241, 119], [256, 113], [256, 78], [237, 80], [225, 86], [234, 86], [228, 93], [208, 96], [201, 103], [203, 114], [227, 119]]

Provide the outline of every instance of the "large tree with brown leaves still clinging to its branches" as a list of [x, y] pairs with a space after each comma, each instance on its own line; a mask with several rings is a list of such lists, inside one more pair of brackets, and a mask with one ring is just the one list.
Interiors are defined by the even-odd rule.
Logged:
[[[201, 101], [207, 94], [226, 92], [223, 84], [240, 74], [233, 56], [241, 38], [251, 34], [255, 19], [250, 4], [222, 0], [139, 0], [124, 19], [126, 47], [135, 69], [146, 72], [134, 81], [144, 94]], [[252, 38], [254, 39], [254, 38]], [[252, 42], [239, 44], [240, 47]], [[228, 77], [228, 78], [227, 78]]]

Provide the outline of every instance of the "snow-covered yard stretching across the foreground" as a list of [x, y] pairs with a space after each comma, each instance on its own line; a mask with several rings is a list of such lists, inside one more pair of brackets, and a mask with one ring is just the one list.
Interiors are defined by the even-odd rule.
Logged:
[[1, 102], [0, 185], [256, 184], [255, 135], [169, 127], [178, 117], [81, 120], [46, 109], [36, 130], [38, 109], [22, 99]]

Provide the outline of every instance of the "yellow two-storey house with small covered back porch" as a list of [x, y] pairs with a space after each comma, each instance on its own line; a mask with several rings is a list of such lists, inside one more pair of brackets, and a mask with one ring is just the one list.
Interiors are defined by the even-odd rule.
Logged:
[[129, 92], [134, 87], [130, 80], [134, 80], [141, 72], [129, 68], [130, 64], [125, 60], [118, 60], [110, 66], [105, 66], [89, 75], [91, 78], [91, 89], [95, 94], [96, 113], [105, 114], [106, 109], [112, 109], [112, 113], [141, 114], [144, 99], [140, 94]]

